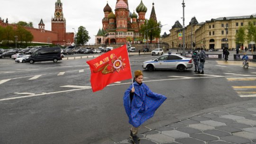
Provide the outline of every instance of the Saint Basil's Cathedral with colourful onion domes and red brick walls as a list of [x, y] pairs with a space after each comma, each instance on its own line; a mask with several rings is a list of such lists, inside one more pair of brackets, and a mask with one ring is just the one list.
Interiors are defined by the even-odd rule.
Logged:
[[[128, 7], [128, 0], [117, 0], [115, 13], [110, 8], [109, 4], [103, 9], [104, 18], [102, 19], [102, 29], [99, 29], [95, 36], [95, 44], [124, 44], [127, 42], [127, 37], [131, 40], [131, 44], [142, 43], [139, 35], [140, 27], [145, 23], [147, 8], [142, 0], [133, 13]], [[151, 11], [150, 19], [156, 20], [155, 8]], [[157, 43], [158, 39], [152, 41]]]

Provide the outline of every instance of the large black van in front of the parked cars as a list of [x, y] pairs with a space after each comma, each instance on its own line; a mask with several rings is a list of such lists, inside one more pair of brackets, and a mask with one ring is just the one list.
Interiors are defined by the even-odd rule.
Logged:
[[56, 63], [59, 60], [62, 60], [61, 50], [59, 47], [43, 47], [38, 49], [32, 55], [26, 57], [25, 62], [35, 63], [43, 61], [53, 61], [54, 63]]

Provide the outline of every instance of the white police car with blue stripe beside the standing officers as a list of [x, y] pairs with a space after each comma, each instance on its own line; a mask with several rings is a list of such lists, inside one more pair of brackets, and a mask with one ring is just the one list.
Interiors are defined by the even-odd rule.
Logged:
[[142, 67], [148, 71], [156, 69], [176, 69], [180, 72], [193, 67], [193, 61], [190, 58], [178, 54], [165, 54], [156, 59], [143, 62]]

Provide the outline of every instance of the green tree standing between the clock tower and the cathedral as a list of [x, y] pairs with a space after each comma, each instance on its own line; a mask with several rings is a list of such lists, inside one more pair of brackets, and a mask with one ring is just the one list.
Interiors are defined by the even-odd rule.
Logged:
[[85, 45], [89, 41], [91, 37], [89, 36], [89, 32], [85, 27], [78, 27], [78, 32], [76, 33], [75, 39], [77, 45]]

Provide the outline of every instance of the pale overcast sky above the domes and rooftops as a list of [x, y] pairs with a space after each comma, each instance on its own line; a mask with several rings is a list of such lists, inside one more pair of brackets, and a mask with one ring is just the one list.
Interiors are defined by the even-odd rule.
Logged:
[[[38, 27], [43, 18], [46, 30], [51, 30], [51, 18], [55, 12], [57, 0], [1, 0], [0, 17], [8, 18], [9, 23], [26, 21], [33, 22]], [[114, 10], [117, 0], [108, 0]], [[152, 2], [155, 2], [155, 12], [158, 21], [162, 25], [162, 33], [169, 33], [176, 20], [183, 21], [183, 0], [143, 0], [147, 7], [146, 18], [149, 18]], [[104, 17], [103, 8], [107, 0], [61, 0], [63, 3], [64, 18], [66, 18], [66, 31], [74, 32], [80, 26], [86, 27], [91, 39], [90, 44], [95, 43], [95, 35], [102, 27]], [[198, 22], [204, 22], [211, 18], [245, 16], [256, 13], [256, 0], [184, 0], [185, 25], [188, 25], [192, 17]], [[137, 8], [140, 0], [128, 0], [131, 12]]]

